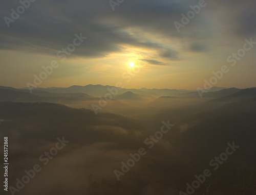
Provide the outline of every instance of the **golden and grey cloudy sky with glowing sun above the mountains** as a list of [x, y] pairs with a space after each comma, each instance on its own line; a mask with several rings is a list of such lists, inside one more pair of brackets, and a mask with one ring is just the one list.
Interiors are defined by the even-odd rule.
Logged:
[[197, 89], [227, 66], [212, 86], [255, 87], [255, 10], [254, 0], [2, 1], [0, 85]]

